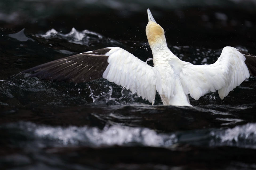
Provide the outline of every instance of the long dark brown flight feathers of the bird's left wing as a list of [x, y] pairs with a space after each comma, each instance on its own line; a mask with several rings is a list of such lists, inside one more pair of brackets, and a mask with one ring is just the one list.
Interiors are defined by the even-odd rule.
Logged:
[[30, 77], [46, 80], [88, 82], [102, 77], [106, 70], [107, 58], [105, 54], [111, 49], [103, 48], [89, 53], [77, 54], [35, 66], [22, 73], [34, 72]]

